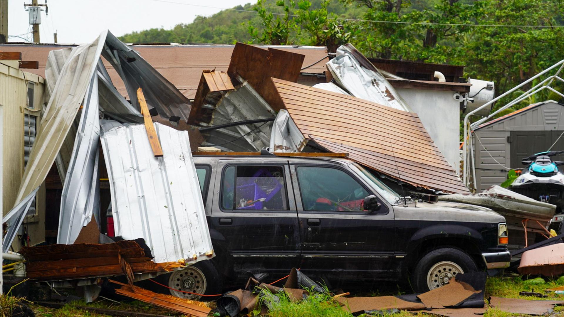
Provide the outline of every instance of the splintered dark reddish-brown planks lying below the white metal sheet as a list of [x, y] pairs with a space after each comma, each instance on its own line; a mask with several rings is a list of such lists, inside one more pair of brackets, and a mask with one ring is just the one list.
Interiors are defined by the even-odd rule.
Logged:
[[[155, 263], [135, 241], [110, 244], [52, 244], [20, 250], [26, 259], [26, 275], [33, 280], [70, 280], [124, 275], [123, 262], [133, 274], [167, 272], [182, 263]], [[121, 261], [120, 261], [121, 259]]]

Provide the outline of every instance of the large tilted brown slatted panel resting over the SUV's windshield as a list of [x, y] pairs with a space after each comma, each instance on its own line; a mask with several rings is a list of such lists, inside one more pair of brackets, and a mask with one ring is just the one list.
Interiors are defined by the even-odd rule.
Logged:
[[416, 113], [272, 78], [306, 138], [413, 186], [468, 192]]

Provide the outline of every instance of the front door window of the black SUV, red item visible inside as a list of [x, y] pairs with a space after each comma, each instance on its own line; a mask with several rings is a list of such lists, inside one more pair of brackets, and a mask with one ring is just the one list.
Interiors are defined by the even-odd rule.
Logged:
[[303, 210], [362, 212], [367, 190], [345, 171], [320, 166], [298, 166]]

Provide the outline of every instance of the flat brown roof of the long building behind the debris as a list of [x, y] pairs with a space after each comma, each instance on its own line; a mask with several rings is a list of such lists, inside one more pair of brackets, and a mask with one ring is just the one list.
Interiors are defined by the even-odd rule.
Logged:
[[[47, 55], [51, 50], [59, 50], [64, 47], [75, 45], [33, 45], [33, 44], [0, 44], [0, 51], [18, 51], [22, 53], [23, 60], [39, 61], [39, 69], [28, 69], [29, 72], [45, 77], [45, 64]], [[231, 53], [235, 45], [134, 45], [133, 49], [148, 61], [168, 81], [173, 83], [183, 95], [193, 99], [202, 71], [214, 69], [226, 72], [231, 60]], [[290, 51], [305, 55], [302, 67], [313, 64], [327, 56], [327, 48], [324, 46], [277, 46], [262, 45], [263, 49], [273, 47], [275, 49]], [[329, 59], [316, 63], [303, 69], [302, 72], [323, 73], [326, 71], [325, 63]], [[113, 67], [104, 60], [104, 65], [112, 78], [113, 85], [124, 96], [127, 96], [124, 83], [114, 71]]]

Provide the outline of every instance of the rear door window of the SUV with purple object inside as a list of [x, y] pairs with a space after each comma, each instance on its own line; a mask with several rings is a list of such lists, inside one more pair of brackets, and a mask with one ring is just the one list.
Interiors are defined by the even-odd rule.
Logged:
[[288, 210], [283, 166], [231, 165], [223, 170], [224, 210]]

